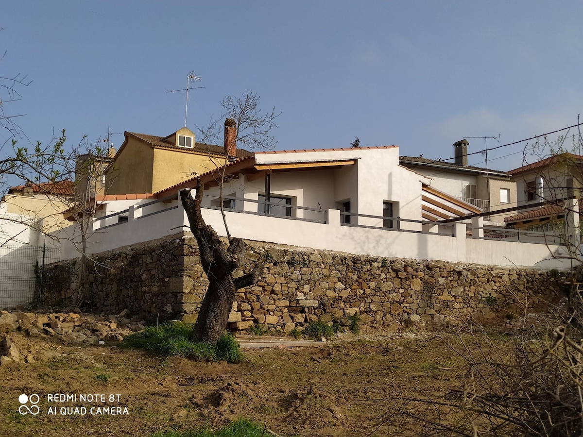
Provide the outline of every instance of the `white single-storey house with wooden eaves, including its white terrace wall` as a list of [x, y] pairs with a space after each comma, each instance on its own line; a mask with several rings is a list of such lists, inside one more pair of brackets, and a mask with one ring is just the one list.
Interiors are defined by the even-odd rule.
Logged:
[[[508, 231], [489, 238], [479, 217], [471, 228], [444, 223], [480, 209], [430, 186], [429, 178], [399, 164], [398, 152], [382, 146], [256, 153], [199, 175], [203, 217], [226, 235], [219, 211], [223, 174], [223, 206], [236, 237], [387, 258], [557, 265], [559, 245], [543, 235]], [[89, 253], [188, 230], [178, 192], [195, 185], [196, 178], [188, 179], [142, 199], [106, 196]], [[57, 236], [64, 235], [62, 258], [75, 258], [70, 241], [78, 236], [71, 229]]]

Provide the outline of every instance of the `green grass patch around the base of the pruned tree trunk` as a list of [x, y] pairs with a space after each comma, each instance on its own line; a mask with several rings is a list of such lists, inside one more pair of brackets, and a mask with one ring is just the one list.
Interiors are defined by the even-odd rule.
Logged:
[[124, 340], [128, 347], [161, 353], [166, 356], [178, 355], [198, 361], [227, 361], [238, 363], [243, 354], [232, 334], [225, 333], [215, 344], [190, 340], [194, 325], [172, 322], [160, 326], [147, 327], [142, 332], [129, 335]]

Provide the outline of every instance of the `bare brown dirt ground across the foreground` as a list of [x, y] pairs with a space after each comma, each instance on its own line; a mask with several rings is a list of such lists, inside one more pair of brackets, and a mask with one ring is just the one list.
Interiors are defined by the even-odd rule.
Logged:
[[[239, 417], [279, 436], [405, 435], [403, 429], [375, 426], [391, 393], [445, 392], [464, 371], [462, 358], [433, 333], [343, 334], [322, 347], [245, 350], [237, 365], [164, 359], [119, 343], [64, 346], [15, 335], [44, 342], [30, 346], [62, 356], [0, 368], [1, 436], [149, 436], [219, 428]], [[40, 413], [20, 414], [19, 396], [33, 393], [40, 397]], [[78, 399], [48, 401], [58, 393]], [[80, 400], [81, 394], [107, 399], [90, 402]], [[119, 397], [110, 403], [110, 394]], [[35, 400], [24, 405], [32, 408]], [[121, 412], [127, 407], [128, 414], [91, 414], [108, 406]], [[62, 408], [75, 413], [75, 407], [85, 407], [86, 414], [61, 414]], [[49, 408], [55, 414], [47, 414]]]

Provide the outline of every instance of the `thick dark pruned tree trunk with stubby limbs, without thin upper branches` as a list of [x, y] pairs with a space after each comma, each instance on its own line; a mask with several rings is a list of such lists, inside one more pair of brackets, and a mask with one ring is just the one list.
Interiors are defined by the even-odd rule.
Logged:
[[180, 192], [182, 206], [198, 243], [201, 265], [209, 280], [209, 287], [192, 332], [192, 340], [216, 341], [227, 326], [237, 290], [255, 284], [261, 276], [264, 263], [258, 262], [251, 272], [244, 276], [232, 277], [245, 257], [248, 246], [239, 238], [233, 238], [227, 246], [215, 230], [205, 223], [201, 215], [203, 191], [204, 185], [201, 179], [198, 179], [194, 199], [190, 190]]

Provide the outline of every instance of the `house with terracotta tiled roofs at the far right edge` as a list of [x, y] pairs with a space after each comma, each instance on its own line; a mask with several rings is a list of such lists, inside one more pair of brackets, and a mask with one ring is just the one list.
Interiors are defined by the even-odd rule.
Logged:
[[[581, 199], [583, 156], [561, 153], [508, 172], [517, 185], [518, 214], [507, 227], [550, 231], [564, 221], [564, 200]], [[543, 202], [545, 205], [540, 205]]]

